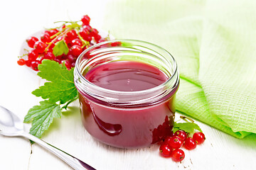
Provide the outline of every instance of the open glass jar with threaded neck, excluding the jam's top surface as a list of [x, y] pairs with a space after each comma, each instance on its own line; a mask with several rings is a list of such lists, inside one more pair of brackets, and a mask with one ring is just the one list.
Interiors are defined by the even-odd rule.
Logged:
[[[142, 91], [105, 89], [85, 79], [100, 64], [134, 61], [149, 64], [166, 74], [167, 80]], [[171, 134], [178, 68], [163, 48], [140, 40], [111, 40], [87, 48], [75, 63], [82, 123], [87, 132], [107, 145], [146, 147]]]

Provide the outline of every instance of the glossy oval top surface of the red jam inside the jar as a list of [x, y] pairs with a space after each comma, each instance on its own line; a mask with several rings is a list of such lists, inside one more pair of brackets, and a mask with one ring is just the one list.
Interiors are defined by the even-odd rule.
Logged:
[[160, 69], [143, 62], [109, 62], [85, 74], [92, 84], [114, 91], [142, 91], [163, 84], [168, 77]]

